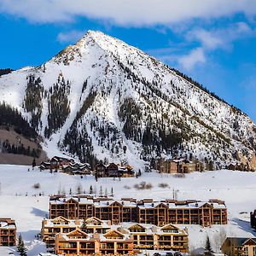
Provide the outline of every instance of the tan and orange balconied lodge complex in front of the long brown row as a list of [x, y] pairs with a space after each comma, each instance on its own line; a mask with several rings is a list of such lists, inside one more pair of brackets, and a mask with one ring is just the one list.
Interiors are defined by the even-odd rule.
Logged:
[[95, 217], [85, 220], [57, 217], [43, 220], [41, 234], [48, 250], [55, 249], [55, 253], [65, 255], [124, 255], [145, 249], [188, 252], [187, 230], [172, 224], [163, 227], [137, 223], [111, 225]]

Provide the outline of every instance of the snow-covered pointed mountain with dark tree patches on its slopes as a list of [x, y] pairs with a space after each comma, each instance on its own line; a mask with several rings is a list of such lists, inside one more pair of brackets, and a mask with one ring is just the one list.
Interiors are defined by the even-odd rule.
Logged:
[[256, 169], [256, 125], [245, 113], [102, 32], [2, 76], [0, 95], [45, 138], [49, 154], [133, 166], [179, 155]]

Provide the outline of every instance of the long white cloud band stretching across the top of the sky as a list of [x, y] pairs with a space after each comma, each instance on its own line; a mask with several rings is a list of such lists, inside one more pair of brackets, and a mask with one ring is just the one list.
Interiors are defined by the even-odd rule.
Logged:
[[0, 12], [32, 22], [70, 22], [77, 16], [120, 26], [171, 24], [194, 18], [256, 15], [255, 0], [1, 0]]

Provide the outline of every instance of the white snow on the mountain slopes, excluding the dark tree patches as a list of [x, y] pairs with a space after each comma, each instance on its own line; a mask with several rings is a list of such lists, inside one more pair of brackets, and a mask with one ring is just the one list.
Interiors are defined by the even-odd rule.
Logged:
[[[128, 79], [125, 68], [150, 86], [138, 80]], [[127, 98], [134, 99], [142, 112], [142, 118], [138, 120], [138, 128], [142, 132], [147, 126], [147, 120], [152, 119], [151, 128], [157, 133], [164, 113], [166, 119], [163, 126], [177, 128], [179, 131], [180, 127], [173, 124], [182, 122], [183, 126], [188, 127], [191, 130], [189, 131], [191, 138], [183, 143], [183, 154], [192, 152], [195, 157], [203, 160], [205, 157], [208, 160], [213, 159], [214, 156], [219, 166], [236, 161], [234, 158], [236, 150], [243, 152], [247, 159], [253, 154], [256, 128], [247, 115], [235, 113], [228, 104], [218, 101], [189, 83], [166, 68], [160, 61], [102, 32], [88, 32], [77, 44], [68, 46], [41, 67], [25, 67], [0, 78], [0, 101], [4, 99], [11, 106], [20, 109], [29, 120], [31, 113], [26, 113], [22, 103], [26, 95], [26, 77], [31, 74], [42, 80], [44, 91], [48, 93], [60, 74], [66, 81], [71, 82], [68, 95], [71, 112], [61, 129], [55, 131], [49, 139], [44, 138], [44, 129], [48, 127], [48, 97], [42, 98], [42, 127], [38, 127], [38, 132], [44, 138], [43, 148], [49, 157], [56, 154], [69, 154], [68, 148], [60, 149], [59, 145], [62, 146], [67, 130], [73, 124], [76, 114], [91, 90], [96, 91], [95, 102], [79, 119], [77, 128], [81, 136], [84, 129], [87, 131], [92, 140], [93, 154], [96, 154], [99, 160], [104, 160], [105, 157], [114, 161], [127, 160], [133, 163], [133, 166], [143, 169], [145, 164], [142, 160], [145, 156], [142, 155], [143, 145], [141, 142], [125, 137], [122, 130], [125, 122], [120, 121], [118, 115], [120, 106]], [[88, 81], [88, 86], [82, 92], [85, 80]], [[165, 97], [159, 96], [160, 94], [155, 93], [152, 88]], [[195, 116], [201, 122], [193, 119]], [[118, 131], [119, 137], [122, 137], [119, 153], [112, 153], [111, 147], [108, 148], [108, 144], [112, 142], [112, 134], [104, 138], [102, 145], [99, 145], [98, 142], [102, 137], [98, 135], [95, 128], [90, 129], [91, 121], [96, 118], [98, 125], [104, 127], [109, 125]], [[234, 128], [235, 121], [240, 125], [237, 129]], [[214, 131], [208, 129], [206, 125], [201, 125], [202, 122], [212, 127]], [[217, 133], [230, 138], [230, 143], [224, 143]], [[113, 143], [118, 145], [119, 138]], [[124, 146], [127, 147], [126, 155], [120, 154]], [[161, 153], [163, 156], [168, 155], [168, 152]], [[146, 156], [150, 159], [155, 154], [156, 152], [153, 151]]]

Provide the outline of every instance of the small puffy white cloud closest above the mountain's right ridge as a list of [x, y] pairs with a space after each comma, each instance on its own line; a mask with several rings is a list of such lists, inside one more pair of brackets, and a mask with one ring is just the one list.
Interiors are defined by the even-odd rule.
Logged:
[[193, 67], [195, 67], [195, 65], [206, 62], [204, 49], [192, 49], [188, 55], [183, 55], [179, 57], [177, 59], [177, 62], [186, 70], [191, 70]]

